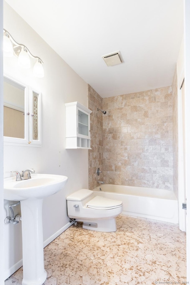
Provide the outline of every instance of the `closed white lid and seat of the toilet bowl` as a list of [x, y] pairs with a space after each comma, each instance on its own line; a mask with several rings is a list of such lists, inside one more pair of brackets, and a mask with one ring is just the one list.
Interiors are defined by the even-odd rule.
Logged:
[[92, 209], [109, 210], [122, 206], [122, 201], [96, 196], [86, 203], [86, 207]]

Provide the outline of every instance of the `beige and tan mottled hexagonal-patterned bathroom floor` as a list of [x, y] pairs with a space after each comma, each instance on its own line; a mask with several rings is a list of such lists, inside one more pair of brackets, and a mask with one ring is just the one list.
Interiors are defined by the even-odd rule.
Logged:
[[[88, 231], [78, 224], [46, 246], [44, 285], [186, 281], [186, 235], [178, 225], [124, 215], [116, 220], [116, 232]], [[22, 267], [5, 281], [10, 284], [22, 284]]]

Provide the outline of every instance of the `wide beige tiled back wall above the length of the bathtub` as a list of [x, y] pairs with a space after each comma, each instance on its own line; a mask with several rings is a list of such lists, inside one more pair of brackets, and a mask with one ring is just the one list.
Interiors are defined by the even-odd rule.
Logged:
[[103, 181], [173, 190], [172, 87], [103, 98]]

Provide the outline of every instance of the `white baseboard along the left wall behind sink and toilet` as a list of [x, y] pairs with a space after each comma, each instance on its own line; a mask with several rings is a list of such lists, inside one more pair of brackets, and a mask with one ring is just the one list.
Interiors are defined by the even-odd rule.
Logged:
[[[51, 235], [47, 240], [44, 241], [44, 248], [47, 246], [49, 243], [51, 243], [55, 238], [57, 238], [59, 235], [62, 234], [66, 229], [68, 229], [70, 226], [72, 226], [72, 223], [67, 223], [64, 227], [59, 229], [57, 232], [55, 232], [53, 235]], [[10, 267], [4, 275], [4, 280], [9, 278], [15, 271], [17, 271], [21, 266], [23, 266], [23, 260], [20, 259], [17, 263], [15, 263], [12, 267]]]

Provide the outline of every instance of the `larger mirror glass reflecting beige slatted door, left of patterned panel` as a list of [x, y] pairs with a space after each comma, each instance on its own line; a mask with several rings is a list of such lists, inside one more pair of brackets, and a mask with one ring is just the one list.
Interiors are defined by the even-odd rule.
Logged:
[[4, 77], [4, 136], [24, 139], [25, 86]]

